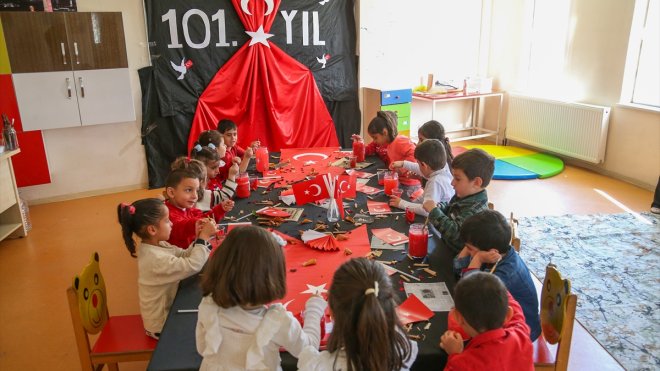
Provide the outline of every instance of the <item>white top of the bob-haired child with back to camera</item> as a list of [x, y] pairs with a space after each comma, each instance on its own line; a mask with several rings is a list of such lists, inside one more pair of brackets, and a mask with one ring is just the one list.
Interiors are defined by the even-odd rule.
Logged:
[[280, 347], [298, 357], [305, 346], [318, 348], [327, 303], [313, 296], [305, 305], [304, 327], [282, 304], [256, 310], [222, 308], [211, 296], [199, 305], [197, 352], [200, 370], [281, 370]]

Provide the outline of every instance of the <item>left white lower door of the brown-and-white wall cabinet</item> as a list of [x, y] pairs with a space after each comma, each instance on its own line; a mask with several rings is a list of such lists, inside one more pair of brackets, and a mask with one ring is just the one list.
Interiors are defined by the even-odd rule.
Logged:
[[80, 126], [72, 72], [15, 73], [12, 79], [23, 130]]

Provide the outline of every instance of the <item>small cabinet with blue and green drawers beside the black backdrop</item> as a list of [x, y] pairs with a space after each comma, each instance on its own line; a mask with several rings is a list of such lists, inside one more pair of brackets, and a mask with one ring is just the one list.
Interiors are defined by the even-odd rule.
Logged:
[[362, 127], [366, 142], [371, 138], [367, 135], [369, 122], [376, 117], [378, 111], [394, 111], [397, 114], [397, 131], [401, 135], [410, 136], [410, 106], [412, 90], [380, 90], [364, 88], [362, 97]]

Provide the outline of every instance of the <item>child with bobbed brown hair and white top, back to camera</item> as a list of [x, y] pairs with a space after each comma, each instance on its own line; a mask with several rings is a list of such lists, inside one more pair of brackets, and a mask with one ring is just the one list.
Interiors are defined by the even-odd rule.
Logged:
[[201, 370], [281, 370], [280, 347], [298, 357], [320, 344], [323, 298], [307, 300], [302, 328], [282, 304], [266, 306], [284, 297], [286, 267], [282, 247], [263, 228], [227, 234], [204, 269], [202, 292], [195, 334]]

